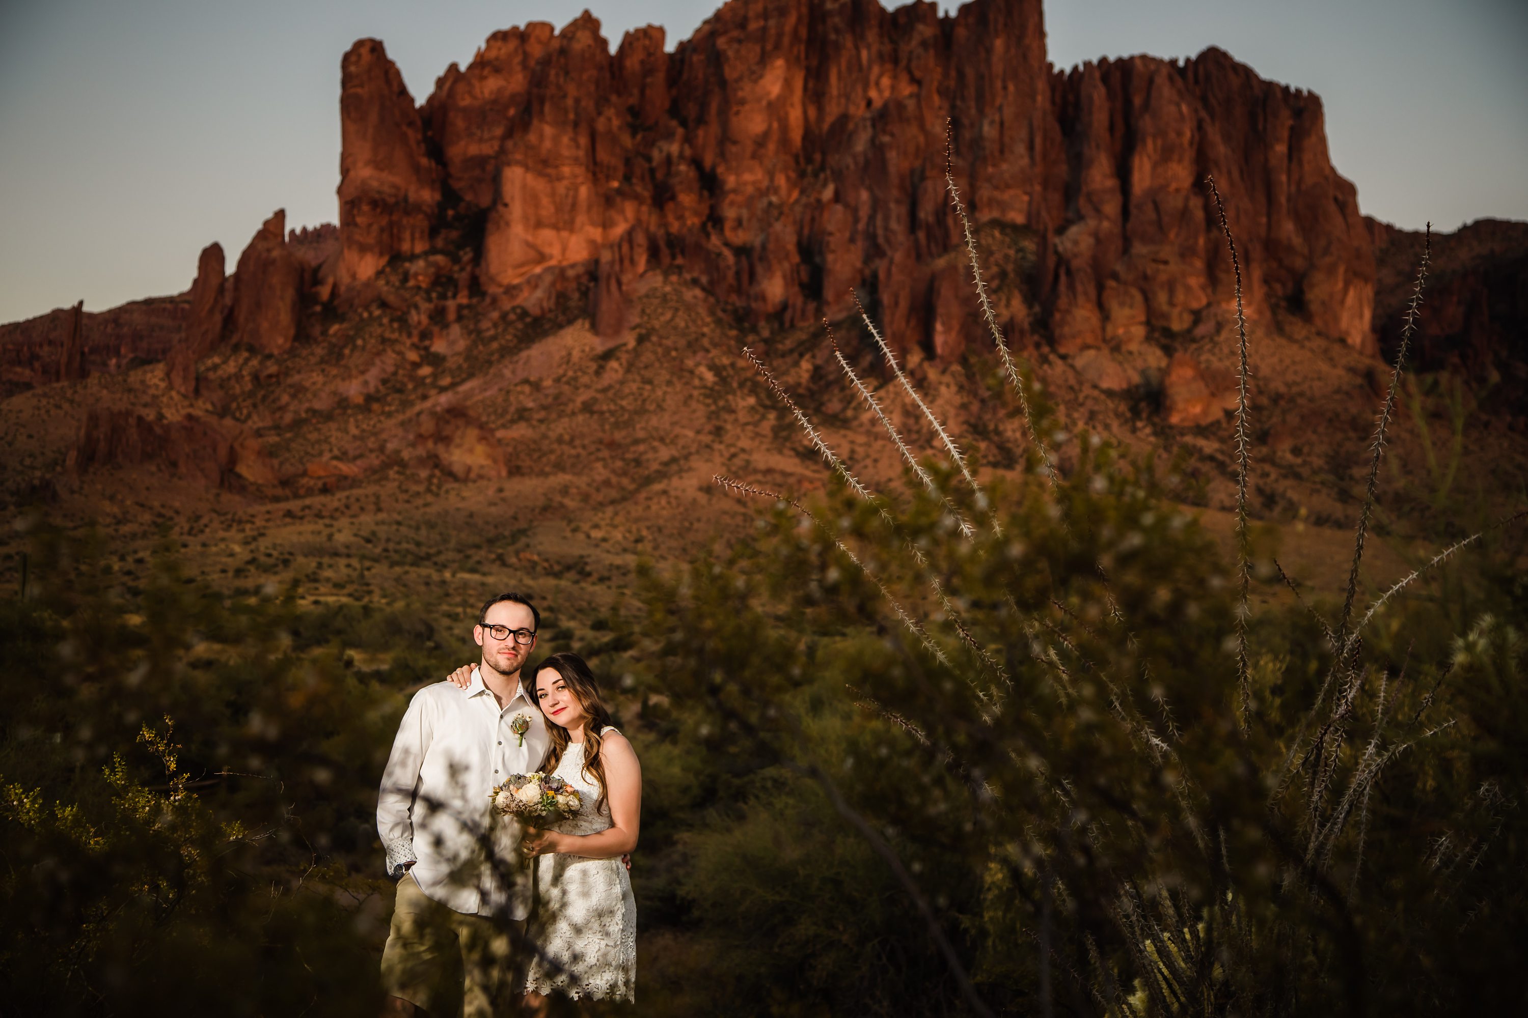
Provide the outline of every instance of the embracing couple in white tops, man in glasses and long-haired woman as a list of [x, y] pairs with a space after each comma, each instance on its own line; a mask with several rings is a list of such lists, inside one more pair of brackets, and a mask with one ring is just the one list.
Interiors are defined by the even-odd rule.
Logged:
[[[550, 995], [634, 1000], [642, 771], [582, 658], [526, 668], [541, 614], [520, 594], [478, 612], [477, 667], [414, 694], [377, 795], [397, 900], [385, 1015], [544, 1015]], [[555, 774], [579, 804], [545, 829], [490, 806], [512, 775]]]

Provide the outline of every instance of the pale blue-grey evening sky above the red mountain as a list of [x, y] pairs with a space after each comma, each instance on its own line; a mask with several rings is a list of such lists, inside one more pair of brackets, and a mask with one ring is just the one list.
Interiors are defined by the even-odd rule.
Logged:
[[[0, 0], [0, 322], [182, 292], [203, 246], [232, 269], [278, 208], [287, 226], [336, 221], [339, 58], [358, 38], [380, 38], [422, 102], [501, 27], [588, 8], [611, 46], [651, 23], [672, 49], [717, 6]], [[1045, 0], [1045, 23], [1057, 67], [1213, 44], [1317, 92], [1369, 215], [1528, 220], [1525, 0]]]

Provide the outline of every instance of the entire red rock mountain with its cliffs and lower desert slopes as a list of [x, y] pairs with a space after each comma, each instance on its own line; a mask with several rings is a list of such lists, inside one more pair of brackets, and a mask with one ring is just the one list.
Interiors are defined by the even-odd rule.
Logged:
[[[674, 52], [662, 29], [611, 49], [588, 15], [497, 32], [420, 104], [376, 40], [342, 78], [338, 229], [277, 212], [234, 264], [203, 252], [185, 295], [0, 327], [0, 498], [95, 520], [128, 585], [168, 525], [234, 591], [471, 603], [533, 577], [582, 614], [639, 556], [685, 557], [744, 519], [712, 473], [822, 485], [746, 345], [895, 481], [822, 324], [885, 386], [856, 295], [981, 462], [1012, 472], [1025, 443], [947, 137], [1063, 470], [1097, 435], [1175, 464], [1175, 498], [1212, 523], [1227, 508], [1235, 295], [1213, 174], [1245, 267], [1253, 511], [1349, 525], [1421, 238], [1358, 214], [1317, 96], [1221, 50], [1062, 72], [1038, 0], [953, 17], [733, 0]], [[1520, 493], [1528, 462], [1528, 226], [1433, 252], [1426, 374], [1392, 447], [1400, 537], [1439, 533], [1464, 478], [1485, 504]], [[3, 540], [18, 581], [21, 537]]]

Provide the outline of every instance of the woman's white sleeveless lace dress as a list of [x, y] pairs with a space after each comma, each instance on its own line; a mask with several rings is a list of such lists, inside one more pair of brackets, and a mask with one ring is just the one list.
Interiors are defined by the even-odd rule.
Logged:
[[[614, 728], [607, 728], [616, 731]], [[594, 812], [599, 786], [582, 774], [584, 743], [568, 743], [555, 774], [584, 797], [579, 812], [552, 830], [593, 835], [611, 826], [610, 806]], [[536, 859], [530, 937], [539, 948], [526, 992], [593, 1000], [636, 1000], [637, 902], [620, 859], [547, 855]]]

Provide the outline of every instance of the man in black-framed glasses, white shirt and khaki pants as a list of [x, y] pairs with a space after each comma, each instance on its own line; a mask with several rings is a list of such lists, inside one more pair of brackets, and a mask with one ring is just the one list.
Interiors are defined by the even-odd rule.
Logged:
[[471, 685], [426, 685], [399, 723], [377, 795], [377, 833], [399, 881], [384, 1015], [443, 1018], [457, 997], [465, 1018], [507, 1009], [529, 888], [516, 879], [518, 830], [494, 817], [489, 791], [535, 771], [550, 743], [521, 684], [539, 626], [526, 597], [490, 600], [472, 627], [483, 659]]

